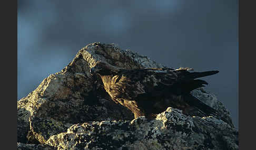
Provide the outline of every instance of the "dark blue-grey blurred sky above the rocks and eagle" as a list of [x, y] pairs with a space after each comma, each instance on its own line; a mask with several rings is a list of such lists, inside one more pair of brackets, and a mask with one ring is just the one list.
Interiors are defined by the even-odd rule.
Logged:
[[238, 127], [238, 0], [23, 0], [17, 21], [17, 100], [99, 41], [172, 68], [219, 70], [205, 89]]

